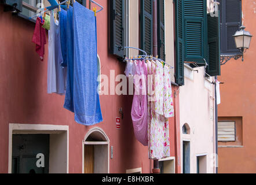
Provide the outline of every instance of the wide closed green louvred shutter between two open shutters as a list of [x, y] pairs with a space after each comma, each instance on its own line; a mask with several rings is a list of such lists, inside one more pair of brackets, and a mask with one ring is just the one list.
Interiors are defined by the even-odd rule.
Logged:
[[183, 0], [185, 61], [204, 64], [207, 57], [206, 0]]

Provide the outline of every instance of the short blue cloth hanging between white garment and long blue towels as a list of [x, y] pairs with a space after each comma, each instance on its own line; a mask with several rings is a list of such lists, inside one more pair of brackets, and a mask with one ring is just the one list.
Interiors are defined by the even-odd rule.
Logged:
[[60, 16], [60, 43], [63, 62], [61, 66], [67, 66], [67, 11], [61, 9]]

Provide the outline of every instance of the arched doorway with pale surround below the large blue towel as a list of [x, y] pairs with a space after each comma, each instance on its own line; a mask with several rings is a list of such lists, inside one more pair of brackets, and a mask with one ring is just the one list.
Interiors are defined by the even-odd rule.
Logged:
[[109, 173], [109, 139], [101, 128], [93, 128], [83, 139], [83, 173]]

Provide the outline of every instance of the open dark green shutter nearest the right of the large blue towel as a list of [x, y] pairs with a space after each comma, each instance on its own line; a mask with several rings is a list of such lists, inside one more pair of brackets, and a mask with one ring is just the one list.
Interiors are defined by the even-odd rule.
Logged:
[[116, 56], [124, 56], [125, 0], [109, 1], [110, 13], [110, 49]]

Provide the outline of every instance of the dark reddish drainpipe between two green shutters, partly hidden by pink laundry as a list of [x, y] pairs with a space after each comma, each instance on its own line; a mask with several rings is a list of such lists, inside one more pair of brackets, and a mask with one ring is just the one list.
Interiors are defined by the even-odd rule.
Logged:
[[[158, 5], [156, 0], [153, 0], [153, 56], [158, 55]], [[158, 160], [153, 161], [153, 173], [160, 173]]]

